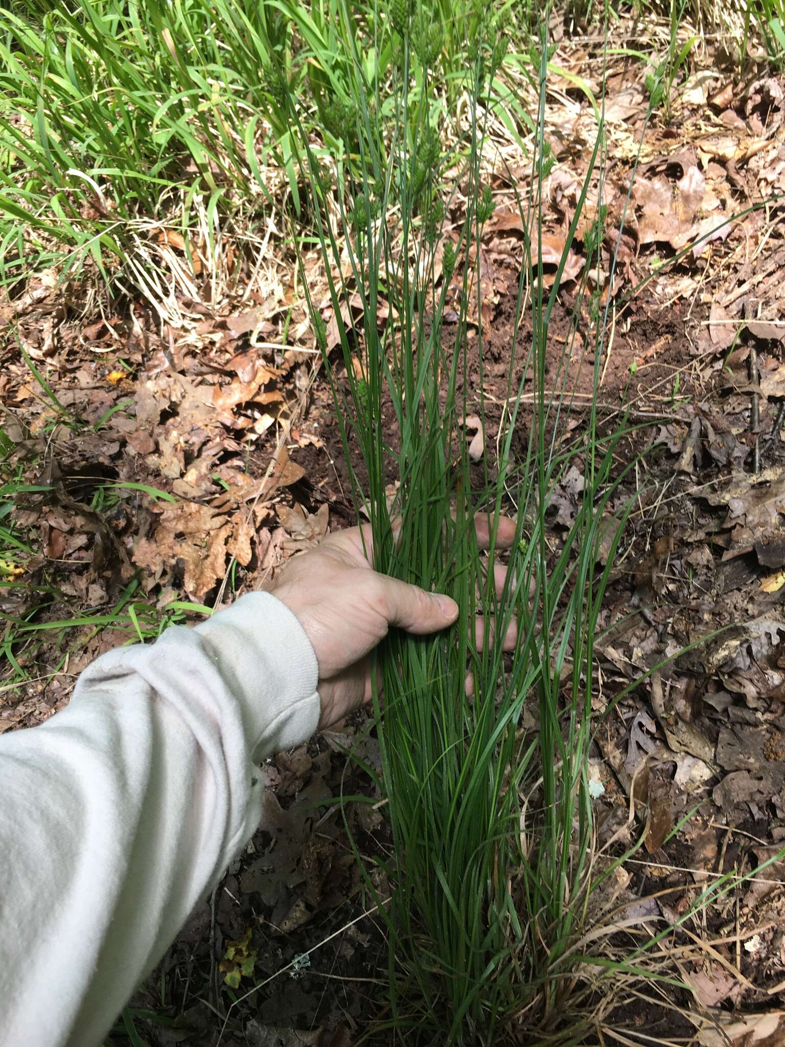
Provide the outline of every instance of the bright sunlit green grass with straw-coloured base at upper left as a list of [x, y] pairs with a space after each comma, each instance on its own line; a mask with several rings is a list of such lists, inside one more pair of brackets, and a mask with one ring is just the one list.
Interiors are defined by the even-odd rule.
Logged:
[[[405, 0], [397, 4], [408, 10]], [[161, 226], [184, 239], [186, 258], [174, 275], [187, 291], [195, 270], [218, 267], [228, 230], [247, 231], [279, 201], [271, 168], [284, 173], [299, 213], [283, 101], [296, 97], [302, 126], [334, 152], [354, 126], [352, 99], [373, 93], [383, 149], [401, 52], [395, 6], [15, 0], [0, 28], [0, 285], [44, 266], [64, 277], [87, 268], [155, 305], [171, 279], [162, 253], [177, 269]], [[426, 48], [439, 41], [447, 121], [461, 46], [483, 9], [475, 0], [432, 0], [414, 18]], [[512, 0], [499, 9], [514, 32]], [[356, 64], [344, 58], [350, 38]], [[518, 135], [526, 114], [516, 92], [498, 81], [488, 91]]]

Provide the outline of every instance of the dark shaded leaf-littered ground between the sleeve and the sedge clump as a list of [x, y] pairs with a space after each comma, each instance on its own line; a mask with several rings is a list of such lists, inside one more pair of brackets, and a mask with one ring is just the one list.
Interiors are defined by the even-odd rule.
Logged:
[[[358, 730], [362, 717], [355, 714]], [[195, 910], [133, 1002], [164, 1019], [175, 1016], [172, 1029], [137, 1019], [156, 1047], [215, 1047], [217, 1013], [226, 1019], [222, 1047], [283, 1045], [290, 1041], [265, 1039], [268, 1030], [316, 1027], [322, 1030], [318, 1047], [347, 1047], [347, 1030], [355, 1035], [384, 1006], [383, 922], [335, 803], [340, 795], [373, 796], [373, 783], [323, 736], [294, 754], [278, 754], [262, 774], [268, 796], [274, 790], [263, 816], [267, 828], [254, 833]], [[344, 809], [374, 887], [386, 896], [373, 856], [389, 853], [387, 824], [369, 817], [367, 803]], [[224, 958], [244, 936], [253, 973], [230, 990]], [[304, 1031], [302, 1043], [316, 1044], [307, 1039], [313, 1035]]]

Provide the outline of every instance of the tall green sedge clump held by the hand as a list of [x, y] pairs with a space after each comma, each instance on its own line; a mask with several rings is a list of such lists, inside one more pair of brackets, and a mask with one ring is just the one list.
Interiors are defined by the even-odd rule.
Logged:
[[[534, 160], [528, 195], [518, 201], [524, 264], [507, 396], [492, 422], [483, 397], [487, 332], [477, 322], [483, 236], [495, 206], [483, 176], [487, 111], [480, 99], [503, 57], [503, 38], [493, 13], [485, 18], [467, 42], [471, 105], [464, 138], [449, 158], [459, 170], [451, 185], [443, 177], [433, 113], [409, 105], [409, 55], [418, 46], [411, 35], [403, 36], [384, 150], [375, 133], [373, 82], [353, 99], [352, 154], [329, 166], [293, 97], [290, 119], [299, 131], [330, 305], [340, 317], [353, 288], [361, 303], [357, 327], [337, 321], [336, 359], [327, 348], [322, 304], [309, 296], [358, 520], [371, 521], [368, 556], [378, 570], [446, 592], [461, 607], [452, 629], [430, 638], [392, 633], [379, 654], [380, 785], [394, 841], [379, 862], [390, 898], [379, 896], [369, 875], [367, 884], [390, 942], [386, 1024], [406, 1043], [434, 1035], [449, 1044], [504, 1035], [520, 1042], [525, 1028], [529, 1035], [552, 1030], [562, 1039], [548, 1042], [566, 1044], [579, 1042], [576, 1008], [585, 1000], [585, 994], [569, 995], [575, 979], [568, 975], [591, 884], [593, 643], [625, 521], [624, 510], [610, 513], [623, 426], [601, 435], [595, 394], [580, 437], [567, 435], [585, 277], [566, 344], [554, 349], [548, 331], [603, 135], [600, 127], [564, 251], [546, 285], [541, 187], [553, 157], [544, 137], [543, 29]], [[361, 69], [351, 40], [347, 46]], [[427, 99], [427, 66], [421, 87]], [[346, 172], [351, 208], [343, 204], [345, 187], [335, 190], [334, 168]], [[458, 220], [448, 223], [456, 211]], [[589, 265], [599, 265], [602, 218]], [[607, 319], [597, 300], [591, 317], [596, 391]], [[479, 461], [466, 431], [472, 414], [486, 432]], [[569, 533], [555, 545], [548, 508], [576, 462], [583, 495]], [[511, 513], [514, 534], [502, 520]], [[610, 550], [605, 558], [603, 541]], [[503, 580], [493, 569], [502, 545]], [[501, 638], [513, 634], [508, 658]]]

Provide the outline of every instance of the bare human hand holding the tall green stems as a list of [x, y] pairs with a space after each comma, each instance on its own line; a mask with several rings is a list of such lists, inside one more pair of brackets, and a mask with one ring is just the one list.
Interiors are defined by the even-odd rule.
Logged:
[[[489, 543], [489, 520], [475, 517], [480, 547]], [[371, 566], [371, 527], [329, 535], [312, 552], [294, 557], [268, 592], [294, 614], [316, 654], [321, 698], [319, 727], [342, 719], [372, 696], [371, 652], [390, 626], [417, 636], [438, 632], [455, 621], [458, 607], [450, 597], [379, 574]], [[515, 537], [515, 524], [501, 517], [497, 548]], [[503, 569], [496, 569], [497, 586]], [[483, 623], [477, 623], [481, 644]], [[508, 638], [504, 638], [507, 648]]]

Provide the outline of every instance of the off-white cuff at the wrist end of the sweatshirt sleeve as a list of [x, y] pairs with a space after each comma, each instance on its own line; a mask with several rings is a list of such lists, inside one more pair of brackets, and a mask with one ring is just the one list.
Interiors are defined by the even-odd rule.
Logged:
[[254, 762], [311, 737], [319, 722], [319, 667], [286, 604], [270, 593], [248, 593], [196, 632], [237, 695]]

